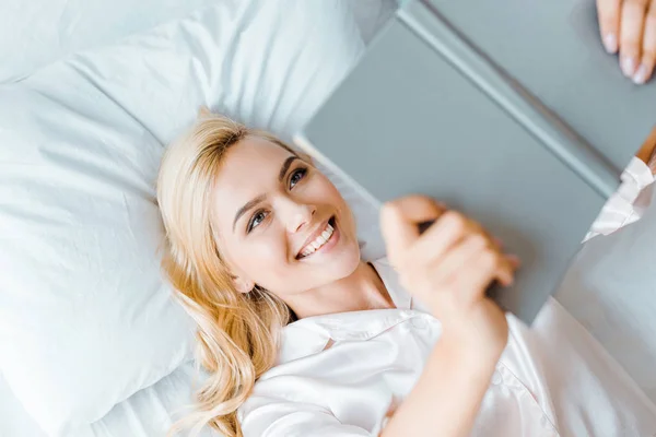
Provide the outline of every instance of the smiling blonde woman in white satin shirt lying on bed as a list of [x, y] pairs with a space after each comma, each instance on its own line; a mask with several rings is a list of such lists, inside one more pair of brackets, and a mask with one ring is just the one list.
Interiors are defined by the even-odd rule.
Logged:
[[211, 115], [167, 150], [157, 184], [164, 268], [210, 373], [197, 428], [655, 435], [656, 408], [554, 300], [529, 331], [485, 298], [517, 261], [461, 214], [387, 204], [388, 260], [363, 262], [349, 206], [307, 157]]

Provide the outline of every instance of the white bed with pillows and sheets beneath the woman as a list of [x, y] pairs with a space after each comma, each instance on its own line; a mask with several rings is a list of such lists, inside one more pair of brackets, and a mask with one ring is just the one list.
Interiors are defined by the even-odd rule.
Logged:
[[[396, 2], [23, 3], [0, 11], [0, 436], [163, 436], [203, 377], [159, 271], [163, 147], [201, 105], [291, 138]], [[375, 211], [329, 176], [382, 256]], [[654, 204], [558, 297], [656, 401]]]

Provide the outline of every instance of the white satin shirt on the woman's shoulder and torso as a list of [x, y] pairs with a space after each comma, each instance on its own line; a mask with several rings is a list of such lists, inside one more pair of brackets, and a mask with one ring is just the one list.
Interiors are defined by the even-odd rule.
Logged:
[[[421, 375], [441, 326], [386, 260], [373, 265], [397, 308], [285, 327], [278, 364], [238, 411], [245, 437], [378, 435]], [[508, 344], [472, 436], [656, 436], [656, 405], [558, 302], [530, 329], [507, 319]]]

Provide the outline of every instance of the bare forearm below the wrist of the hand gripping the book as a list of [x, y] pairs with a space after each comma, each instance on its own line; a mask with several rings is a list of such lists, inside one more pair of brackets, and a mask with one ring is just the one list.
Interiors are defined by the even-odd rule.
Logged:
[[482, 346], [443, 336], [380, 436], [468, 436], [501, 355], [501, 349], [496, 354], [481, 353], [489, 349]]

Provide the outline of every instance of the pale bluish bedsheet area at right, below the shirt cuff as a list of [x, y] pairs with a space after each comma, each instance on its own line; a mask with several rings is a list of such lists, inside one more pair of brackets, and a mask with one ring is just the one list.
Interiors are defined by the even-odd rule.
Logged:
[[655, 185], [649, 198], [639, 222], [583, 247], [555, 297], [656, 402]]

